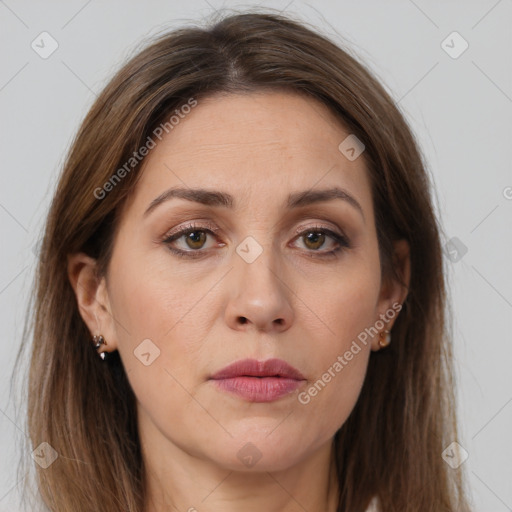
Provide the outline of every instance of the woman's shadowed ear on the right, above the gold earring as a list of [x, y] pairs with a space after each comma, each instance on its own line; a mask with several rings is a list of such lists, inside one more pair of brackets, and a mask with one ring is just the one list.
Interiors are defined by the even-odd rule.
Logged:
[[[376, 322], [384, 323], [381, 330], [391, 331], [398, 318], [402, 304], [409, 292], [411, 279], [410, 248], [406, 240], [393, 242], [393, 262], [398, 278], [387, 276], [383, 279], [377, 305]], [[379, 350], [379, 336], [372, 340], [372, 350]]]

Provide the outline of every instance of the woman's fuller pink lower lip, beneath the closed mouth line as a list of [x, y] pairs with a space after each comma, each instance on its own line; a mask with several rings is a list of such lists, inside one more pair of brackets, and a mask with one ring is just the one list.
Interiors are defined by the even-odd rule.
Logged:
[[248, 402], [273, 402], [298, 389], [304, 381], [284, 377], [232, 377], [213, 382], [221, 390]]

